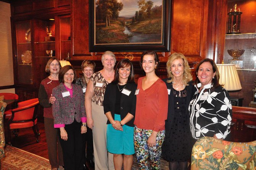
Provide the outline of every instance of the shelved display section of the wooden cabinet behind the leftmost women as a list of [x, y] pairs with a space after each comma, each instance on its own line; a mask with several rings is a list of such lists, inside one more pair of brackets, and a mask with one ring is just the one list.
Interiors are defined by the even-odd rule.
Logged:
[[[66, 58], [71, 53], [70, 15], [14, 21], [14, 28], [15, 84], [19, 88], [38, 88], [47, 77], [45, 66], [49, 58]], [[52, 56], [46, 51], [52, 51]]]

